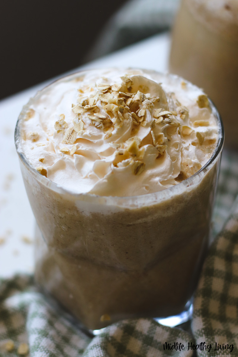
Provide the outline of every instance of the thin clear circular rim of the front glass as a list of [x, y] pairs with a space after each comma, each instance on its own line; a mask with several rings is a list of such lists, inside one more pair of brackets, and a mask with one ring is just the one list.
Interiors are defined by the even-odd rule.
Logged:
[[[112, 68], [111, 68], [112, 69]], [[129, 70], [132, 69], [131, 67], [125, 69], [125, 70]], [[209, 168], [210, 166], [212, 166], [214, 164], [214, 162], [216, 161], [216, 158], [218, 157], [219, 153], [222, 151], [222, 147], [224, 144], [224, 127], [223, 127], [223, 122], [221, 119], [221, 116], [216, 108], [216, 106], [214, 105], [214, 103], [212, 102], [212, 100], [208, 97], [211, 109], [212, 109], [212, 113], [214, 115], [214, 117], [217, 120], [217, 124], [218, 124], [218, 141], [217, 141], [217, 145], [216, 148], [213, 151], [212, 156], [210, 157], [210, 159], [207, 161], [207, 163], [201, 167], [200, 170], [198, 170], [194, 175], [186, 178], [185, 180], [177, 183], [176, 185], [164, 188], [163, 190], [160, 191], [155, 191], [155, 192], [150, 192], [150, 193], [145, 193], [143, 195], [137, 195], [137, 196], [100, 196], [100, 195], [96, 195], [93, 193], [76, 193], [73, 192], [67, 188], [64, 188], [63, 186], [55, 183], [54, 181], [51, 181], [49, 178], [43, 176], [40, 174], [40, 172], [38, 172], [36, 169], [34, 169], [34, 167], [31, 166], [31, 164], [29, 163], [29, 161], [27, 160], [25, 154], [22, 151], [19, 151], [19, 147], [20, 147], [20, 124], [21, 124], [21, 120], [23, 119], [23, 117], [26, 114], [26, 111], [29, 109], [29, 106], [31, 104], [32, 101], [34, 101], [34, 99], [37, 96], [40, 96], [42, 93], [44, 93], [45, 90], [47, 90], [48, 87], [52, 86], [53, 84], [55, 84], [56, 82], [59, 81], [63, 81], [63, 80], [70, 80], [71, 77], [74, 76], [78, 76], [78, 75], [83, 75], [85, 72], [88, 71], [95, 71], [97, 69], [90, 69], [90, 70], [83, 70], [83, 71], [78, 71], [75, 72], [73, 74], [70, 74], [68, 76], [64, 76], [61, 77], [60, 79], [57, 79], [55, 81], [53, 81], [51, 84], [47, 85], [46, 87], [44, 87], [42, 90], [37, 91], [37, 93], [35, 94], [34, 97], [30, 98], [30, 100], [27, 102], [26, 105], [23, 106], [22, 111], [17, 119], [16, 122], [16, 127], [15, 127], [15, 134], [14, 134], [14, 139], [15, 139], [15, 147], [16, 147], [16, 151], [17, 154], [19, 155], [20, 160], [23, 162], [24, 165], [26, 165], [27, 169], [29, 169], [31, 171], [31, 173], [33, 174], [33, 176], [35, 176], [37, 181], [40, 181], [40, 183], [44, 186], [47, 186], [49, 189], [51, 189], [52, 191], [55, 191], [57, 193], [60, 193], [61, 195], [67, 195], [67, 196], [71, 196], [74, 197], [75, 200], [86, 200], [86, 201], [91, 201], [91, 202], [97, 202], [97, 203], [109, 203], [109, 204], [117, 204], [120, 205], [120, 203], [122, 203], [125, 200], [131, 200], [132, 205], [134, 204], [138, 204], [138, 202], [140, 203], [147, 203], [152, 201], [151, 198], [153, 198], [153, 201], [158, 201], [159, 199], [162, 201], [165, 198], [168, 198], [168, 193], [172, 193], [175, 191], [177, 191], [176, 193], [182, 192], [186, 187], [188, 186], [192, 186], [194, 183], [198, 182], [201, 178], [201, 175], [204, 174]], [[106, 70], [106, 69], [105, 69]], [[152, 73], [155, 72], [157, 74], [161, 74], [163, 75], [162, 72], [159, 71], [155, 71], [155, 70], [144, 70], [144, 69], [140, 69], [140, 68], [133, 68], [133, 70], [143, 70], [145, 72], [148, 73]], [[178, 76], [178, 75], [174, 75], [174, 74], [167, 74], [168, 76], [173, 76], [176, 78], [181, 78], [181, 80], [184, 80], [182, 77]], [[187, 81], [188, 82], [188, 81]], [[135, 202], [133, 202], [135, 201]]]

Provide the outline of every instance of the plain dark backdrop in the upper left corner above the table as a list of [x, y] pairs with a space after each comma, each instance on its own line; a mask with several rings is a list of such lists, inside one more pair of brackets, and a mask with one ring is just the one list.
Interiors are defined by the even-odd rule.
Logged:
[[126, 1], [2, 0], [0, 99], [82, 65]]

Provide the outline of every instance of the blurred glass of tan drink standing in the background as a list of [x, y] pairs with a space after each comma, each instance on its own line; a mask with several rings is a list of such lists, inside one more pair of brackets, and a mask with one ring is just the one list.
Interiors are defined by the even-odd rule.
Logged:
[[223, 119], [225, 146], [238, 150], [237, 0], [182, 0], [169, 70], [203, 88]]

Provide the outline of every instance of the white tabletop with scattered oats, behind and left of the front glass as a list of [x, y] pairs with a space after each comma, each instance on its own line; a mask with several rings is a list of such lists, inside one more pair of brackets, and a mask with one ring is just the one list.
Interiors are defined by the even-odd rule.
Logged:
[[[153, 36], [66, 74], [82, 69], [113, 66], [167, 71], [169, 45], [168, 33]], [[22, 106], [37, 90], [52, 81], [53, 79], [0, 101], [0, 277], [33, 271], [34, 216], [21, 177], [14, 130]]]

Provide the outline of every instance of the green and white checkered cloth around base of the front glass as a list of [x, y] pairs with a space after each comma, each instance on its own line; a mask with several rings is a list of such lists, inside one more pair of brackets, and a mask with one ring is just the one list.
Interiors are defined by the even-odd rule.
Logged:
[[[0, 280], [0, 356], [18, 356], [21, 349], [24, 354], [25, 348], [25, 355], [31, 357], [237, 357], [237, 193], [237, 154], [224, 152], [214, 232], [228, 220], [203, 266], [194, 298], [192, 332], [165, 327], [150, 319], [136, 319], [115, 323], [90, 338], [48, 304], [35, 289], [32, 276], [18, 275]], [[166, 342], [177, 348], [166, 349]], [[184, 349], [179, 351], [179, 345]]]

